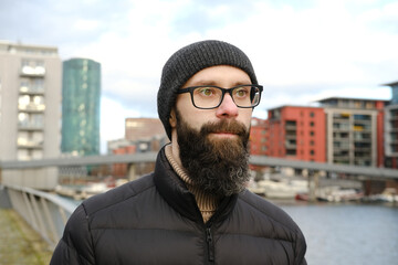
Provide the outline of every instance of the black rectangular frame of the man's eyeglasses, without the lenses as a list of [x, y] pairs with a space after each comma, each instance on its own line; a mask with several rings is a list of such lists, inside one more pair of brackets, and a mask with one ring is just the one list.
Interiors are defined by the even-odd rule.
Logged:
[[[260, 92], [260, 94], [259, 94], [259, 102], [258, 102], [255, 105], [243, 107], [243, 106], [239, 106], [239, 105], [234, 102], [233, 96], [232, 96], [232, 92], [233, 92], [234, 89], [239, 88], [239, 87], [242, 87], [242, 86], [251, 86], [251, 87], [256, 87], [256, 88], [259, 88], [259, 92]], [[214, 107], [198, 107], [198, 106], [195, 104], [195, 100], [193, 100], [193, 91], [195, 91], [196, 88], [200, 88], [200, 87], [212, 87], [212, 88], [218, 88], [218, 89], [220, 89], [220, 91], [222, 92], [220, 103], [219, 103], [217, 106], [214, 106]], [[239, 107], [239, 108], [254, 108], [254, 107], [259, 106], [259, 104], [260, 104], [261, 93], [263, 92], [263, 86], [262, 86], [262, 85], [247, 84], [247, 85], [238, 85], [238, 86], [234, 86], [234, 87], [231, 87], [231, 88], [223, 88], [223, 87], [219, 87], [219, 86], [214, 86], [214, 85], [207, 85], [207, 86], [206, 86], [206, 85], [200, 85], [200, 86], [189, 86], [189, 87], [186, 87], [186, 88], [178, 89], [178, 91], [177, 91], [177, 94], [184, 94], [184, 93], [188, 93], [188, 92], [189, 92], [189, 94], [190, 94], [190, 96], [191, 96], [192, 105], [193, 105], [196, 108], [199, 108], [199, 109], [213, 109], [213, 108], [218, 108], [218, 107], [222, 104], [226, 93], [230, 94], [230, 96], [231, 96], [233, 103], [237, 105], [237, 107]], [[250, 95], [250, 97], [252, 97], [252, 95]], [[252, 99], [252, 98], [251, 98], [251, 99]]]

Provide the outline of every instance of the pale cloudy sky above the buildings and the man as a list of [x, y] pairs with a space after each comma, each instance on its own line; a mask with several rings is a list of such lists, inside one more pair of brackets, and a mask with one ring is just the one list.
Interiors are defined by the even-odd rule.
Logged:
[[157, 117], [161, 68], [178, 49], [222, 40], [264, 86], [253, 116], [327, 97], [391, 98], [394, 0], [0, 0], [0, 40], [56, 46], [102, 65], [101, 150], [127, 117]]

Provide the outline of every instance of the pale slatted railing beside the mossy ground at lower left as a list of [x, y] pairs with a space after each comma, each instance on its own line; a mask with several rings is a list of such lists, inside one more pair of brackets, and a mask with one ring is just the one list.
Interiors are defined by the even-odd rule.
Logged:
[[13, 210], [55, 248], [66, 221], [77, 204], [56, 194], [27, 187], [6, 186], [4, 189]]

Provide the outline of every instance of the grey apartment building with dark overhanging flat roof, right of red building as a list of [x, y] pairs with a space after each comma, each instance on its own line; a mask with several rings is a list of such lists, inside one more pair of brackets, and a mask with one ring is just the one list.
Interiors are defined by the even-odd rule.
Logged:
[[328, 162], [371, 167], [384, 165], [386, 103], [345, 97], [320, 100], [326, 113]]

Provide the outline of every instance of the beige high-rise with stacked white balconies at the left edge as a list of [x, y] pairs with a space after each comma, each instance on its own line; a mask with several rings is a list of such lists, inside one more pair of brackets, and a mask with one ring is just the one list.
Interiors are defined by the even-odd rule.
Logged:
[[0, 42], [0, 160], [60, 155], [61, 66], [56, 47]]

